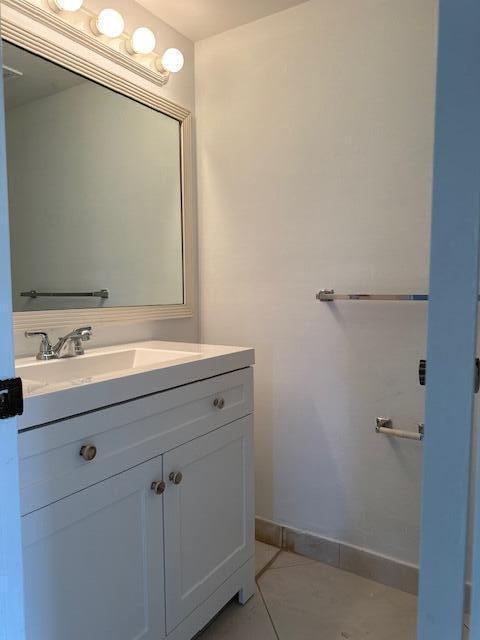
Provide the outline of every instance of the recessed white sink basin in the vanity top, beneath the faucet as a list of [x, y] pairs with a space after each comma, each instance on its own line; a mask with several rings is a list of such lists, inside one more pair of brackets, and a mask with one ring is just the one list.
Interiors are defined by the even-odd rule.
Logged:
[[190, 351], [129, 348], [103, 353], [85, 354], [46, 362], [17, 362], [17, 376], [23, 380], [25, 393], [36, 393], [45, 387], [88, 384], [99, 379], [114, 378], [140, 370], [148, 370], [201, 357]]

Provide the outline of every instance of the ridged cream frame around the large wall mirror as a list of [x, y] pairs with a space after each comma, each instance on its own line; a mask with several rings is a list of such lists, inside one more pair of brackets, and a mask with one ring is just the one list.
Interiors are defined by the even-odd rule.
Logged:
[[[7, 5], [28, 17], [39, 20], [53, 27], [57, 32], [70, 37], [71, 26], [50, 16], [28, 0], [2, 0]], [[189, 318], [194, 314], [195, 299], [195, 265], [193, 242], [193, 149], [192, 149], [192, 115], [187, 109], [152, 93], [141, 86], [128, 82], [101, 66], [81, 58], [77, 53], [35, 35], [8, 16], [2, 15], [1, 36], [4, 40], [23, 47], [32, 53], [47, 58], [52, 62], [79, 73], [86, 78], [99, 82], [119, 93], [122, 93], [142, 104], [175, 118], [180, 123], [181, 167], [182, 167], [182, 226], [183, 226], [183, 304], [152, 305], [144, 307], [110, 307], [108, 309], [62, 309], [51, 311], [20, 311], [13, 314], [14, 329], [56, 328], [82, 324], [106, 324], [116, 322], [142, 322], [148, 320], [166, 320], [172, 318]], [[90, 47], [90, 40], [92, 41]], [[85, 38], [82, 42], [87, 48], [99, 53], [94, 39]], [[112, 59], [112, 50], [108, 56]], [[115, 53], [115, 52], [114, 52]], [[123, 65], [123, 56], [118, 53], [115, 62]]]

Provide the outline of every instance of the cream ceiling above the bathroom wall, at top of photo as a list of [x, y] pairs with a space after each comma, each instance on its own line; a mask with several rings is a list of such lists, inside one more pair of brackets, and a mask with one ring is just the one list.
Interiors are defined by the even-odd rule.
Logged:
[[202, 40], [306, 0], [137, 0], [190, 40]]

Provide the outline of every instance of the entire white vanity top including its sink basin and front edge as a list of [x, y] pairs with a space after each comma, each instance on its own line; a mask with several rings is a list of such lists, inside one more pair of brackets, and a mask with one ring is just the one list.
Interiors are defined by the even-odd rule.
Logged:
[[17, 358], [25, 396], [17, 428], [48, 424], [253, 363], [253, 349], [163, 340], [91, 347], [84, 356], [47, 362]]

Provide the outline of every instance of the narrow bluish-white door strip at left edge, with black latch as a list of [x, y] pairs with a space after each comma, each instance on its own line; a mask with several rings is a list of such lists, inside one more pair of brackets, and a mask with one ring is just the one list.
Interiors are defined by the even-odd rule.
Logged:
[[[0, 51], [0, 63], [2, 54]], [[0, 82], [0, 379], [15, 375], [3, 83]], [[4, 394], [0, 390], [0, 405]], [[17, 423], [0, 419], [0, 638], [22, 640], [23, 584]]]

